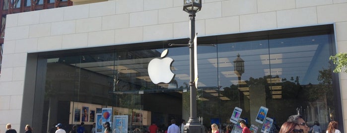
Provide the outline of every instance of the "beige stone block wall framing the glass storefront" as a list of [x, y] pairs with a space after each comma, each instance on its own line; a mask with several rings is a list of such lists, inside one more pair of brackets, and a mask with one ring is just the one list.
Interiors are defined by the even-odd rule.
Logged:
[[[187, 38], [182, 8], [182, 0], [111, 0], [7, 15], [0, 130], [20, 129], [27, 53]], [[335, 24], [337, 52], [347, 52], [347, 0], [203, 0], [196, 16], [199, 36], [321, 24]], [[346, 73], [340, 88], [346, 133]]]

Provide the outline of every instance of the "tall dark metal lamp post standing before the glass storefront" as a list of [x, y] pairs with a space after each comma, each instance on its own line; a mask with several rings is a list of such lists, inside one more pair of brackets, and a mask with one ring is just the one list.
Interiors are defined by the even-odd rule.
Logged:
[[183, 10], [189, 13], [190, 40], [188, 43], [190, 54], [190, 118], [184, 126], [184, 133], [203, 133], [204, 128], [197, 118], [196, 87], [194, 84], [194, 38], [195, 38], [195, 13], [201, 10], [201, 0], [183, 0]]

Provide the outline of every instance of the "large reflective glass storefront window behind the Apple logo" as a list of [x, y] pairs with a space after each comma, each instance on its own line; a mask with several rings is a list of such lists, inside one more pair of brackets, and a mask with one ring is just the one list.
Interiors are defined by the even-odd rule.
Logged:
[[[225, 129], [235, 107], [248, 126], [261, 127], [255, 117], [261, 106], [280, 127], [288, 116], [301, 114], [307, 123], [342, 121], [337, 81], [329, 56], [334, 55], [332, 25], [199, 37], [198, 117], [208, 129], [217, 123]], [[85, 122], [97, 123], [101, 108], [128, 116], [128, 131], [145, 131], [151, 123], [165, 130], [171, 119], [189, 118], [189, 49], [169, 47], [187, 39], [105, 46], [38, 54], [45, 63], [44, 98], [39, 117], [42, 131], [63, 123], [69, 132]], [[174, 60], [170, 83], [153, 84], [148, 63]], [[240, 60], [241, 59], [241, 60]], [[243, 63], [243, 65], [237, 65]], [[158, 69], [159, 70], [159, 69]], [[24, 101], [25, 103], [25, 101]], [[86, 111], [86, 116], [83, 117]], [[45, 125], [46, 124], [46, 125]], [[180, 125], [180, 121], [177, 121]], [[260, 132], [258, 130], [258, 132]]]

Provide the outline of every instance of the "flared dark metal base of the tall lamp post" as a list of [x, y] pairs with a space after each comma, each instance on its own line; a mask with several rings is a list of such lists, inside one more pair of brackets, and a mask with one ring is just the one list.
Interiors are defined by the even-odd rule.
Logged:
[[190, 117], [184, 126], [184, 133], [205, 133], [205, 127], [201, 125], [197, 118]]

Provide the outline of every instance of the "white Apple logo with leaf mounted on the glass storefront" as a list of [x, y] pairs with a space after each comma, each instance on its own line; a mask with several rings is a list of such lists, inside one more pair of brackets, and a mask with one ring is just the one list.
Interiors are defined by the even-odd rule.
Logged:
[[161, 59], [155, 58], [148, 64], [149, 78], [154, 84], [160, 82], [169, 83], [175, 76], [171, 71], [171, 64], [174, 60], [169, 57], [165, 58], [168, 51], [167, 49], [164, 50], [163, 53], [161, 53]]

